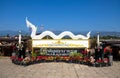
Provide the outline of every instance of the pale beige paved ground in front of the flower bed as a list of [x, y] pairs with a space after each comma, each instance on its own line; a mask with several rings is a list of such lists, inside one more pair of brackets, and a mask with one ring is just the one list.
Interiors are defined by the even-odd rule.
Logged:
[[110, 67], [51, 62], [19, 66], [0, 58], [0, 78], [120, 78], [120, 61]]

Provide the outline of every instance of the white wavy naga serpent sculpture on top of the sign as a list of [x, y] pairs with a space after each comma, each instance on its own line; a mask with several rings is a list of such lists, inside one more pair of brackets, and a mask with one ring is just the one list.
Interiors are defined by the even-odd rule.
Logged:
[[33, 25], [31, 22], [29, 22], [26, 18], [26, 24], [27, 27], [32, 29], [32, 33], [31, 33], [31, 38], [32, 39], [42, 39], [43, 37], [49, 35], [50, 37], [52, 37], [53, 39], [61, 39], [64, 36], [69, 36], [72, 39], [89, 39], [90, 38], [90, 32], [88, 32], [87, 36], [83, 36], [83, 35], [74, 35], [72, 32], [70, 31], [64, 31], [59, 35], [55, 35], [53, 32], [51, 31], [44, 31], [42, 32], [40, 35], [36, 35], [36, 31], [37, 31], [37, 27], [35, 25]]

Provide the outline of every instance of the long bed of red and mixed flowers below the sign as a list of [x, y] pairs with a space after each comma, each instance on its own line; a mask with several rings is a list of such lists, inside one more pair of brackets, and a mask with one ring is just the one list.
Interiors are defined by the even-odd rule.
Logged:
[[25, 57], [18, 58], [17, 56], [11, 56], [11, 60], [14, 64], [17, 65], [31, 65], [35, 63], [41, 62], [67, 62], [67, 63], [78, 63], [84, 64], [88, 66], [96, 66], [103, 67], [108, 66], [108, 58], [104, 58], [103, 60], [95, 60], [94, 57], [83, 57], [81, 54], [73, 53], [70, 56], [47, 56], [47, 55], [39, 55], [33, 57]]

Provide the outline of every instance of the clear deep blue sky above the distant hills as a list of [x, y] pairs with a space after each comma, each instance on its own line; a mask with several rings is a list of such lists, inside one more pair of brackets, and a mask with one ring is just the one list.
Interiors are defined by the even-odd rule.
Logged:
[[120, 0], [0, 0], [0, 31], [28, 31], [26, 17], [38, 31], [120, 32]]

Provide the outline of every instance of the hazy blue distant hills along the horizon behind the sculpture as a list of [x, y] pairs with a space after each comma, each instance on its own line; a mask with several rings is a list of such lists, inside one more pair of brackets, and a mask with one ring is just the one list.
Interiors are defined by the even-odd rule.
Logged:
[[[26, 31], [21, 31], [22, 35], [30, 35], [30, 32], [26, 32]], [[52, 31], [54, 32], [56, 35], [60, 34], [62, 31]], [[88, 31], [72, 31], [74, 34], [83, 34], [86, 36], [86, 34], [88, 33]], [[97, 32], [98, 31], [91, 31], [91, 36], [97, 36]], [[0, 31], [0, 36], [15, 36], [19, 34], [19, 31], [12, 31], [12, 30], [4, 30], [4, 31]], [[39, 34], [39, 33], [37, 33]], [[108, 31], [99, 31], [100, 36], [118, 36], [120, 37], [120, 32], [108, 32]]]

